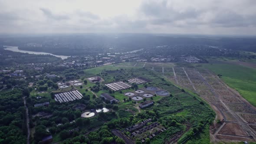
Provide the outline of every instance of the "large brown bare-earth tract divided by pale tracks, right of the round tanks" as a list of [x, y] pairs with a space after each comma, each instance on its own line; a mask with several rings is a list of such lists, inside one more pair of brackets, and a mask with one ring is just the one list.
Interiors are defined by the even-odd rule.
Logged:
[[[218, 141], [256, 141], [256, 108], [238, 92], [228, 87], [207, 69], [173, 69], [171, 80], [197, 92], [216, 112], [216, 121], [210, 126], [213, 143]], [[178, 73], [178, 75], [176, 75]], [[184, 76], [181, 73], [185, 73]], [[167, 76], [167, 75], [165, 75]], [[221, 123], [217, 124], [217, 120]]]

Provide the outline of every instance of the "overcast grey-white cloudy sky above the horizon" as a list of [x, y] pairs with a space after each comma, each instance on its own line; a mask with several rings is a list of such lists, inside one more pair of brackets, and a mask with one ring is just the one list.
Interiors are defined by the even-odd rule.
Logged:
[[0, 33], [256, 35], [256, 0], [0, 0]]

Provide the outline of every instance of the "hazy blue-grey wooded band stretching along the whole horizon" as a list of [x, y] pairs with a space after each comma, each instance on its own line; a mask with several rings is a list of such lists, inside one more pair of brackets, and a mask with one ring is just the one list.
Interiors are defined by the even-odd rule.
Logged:
[[[1, 45], [19, 46], [19, 49], [49, 52], [58, 55], [95, 55], [102, 52], [129, 52], [156, 46], [215, 46], [222, 49], [256, 52], [255, 37], [156, 36], [146, 34], [26, 36], [0, 38]], [[31, 43], [40, 44], [33, 46]]]

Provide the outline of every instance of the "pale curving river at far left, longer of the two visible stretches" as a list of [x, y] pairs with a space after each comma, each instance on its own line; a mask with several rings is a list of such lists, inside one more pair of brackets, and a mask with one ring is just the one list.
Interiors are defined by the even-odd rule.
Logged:
[[47, 53], [47, 52], [33, 52], [33, 51], [27, 51], [27, 50], [20, 50], [18, 49], [18, 46], [3, 46], [5, 47], [5, 50], [10, 50], [13, 52], [22, 52], [22, 53], [29, 53], [29, 54], [36, 54], [36, 55], [52, 55], [59, 57], [61, 59], [67, 59], [69, 56], [59, 56], [59, 55], [53, 55], [52, 53]]

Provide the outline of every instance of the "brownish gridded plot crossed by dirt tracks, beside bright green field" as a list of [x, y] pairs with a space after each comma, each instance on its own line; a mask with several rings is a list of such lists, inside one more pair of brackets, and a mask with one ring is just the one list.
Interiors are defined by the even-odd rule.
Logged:
[[[220, 140], [232, 140], [233, 137], [236, 137], [237, 139], [243, 137], [244, 140], [252, 141], [251, 137], [255, 137], [253, 131], [248, 128], [247, 124], [243, 124], [243, 120], [236, 117], [236, 115], [238, 112], [242, 112], [243, 116], [246, 113], [255, 113], [256, 109], [254, 107], [241, 100], [239, 94], [230, 90], [230, 88], [225, 86], [216, 75], [212, 74], [207, 69], [181, 69], [176, 67], [174, 68], [174, 72], [186, 73], [187, 76], [184, 77], [174, 76], [174, 79], [177, 79], [176, 83], [190, 88], [191, 90], [192, 88], [195, 89], [195, 92], [207, 100], [217, 112], [217, 117], [223, 124], [221, 127], [213, 128], [216, 131], [211, 133], [215, 138]], [[184, 85], [184, 83], [186, 83], [186, 85]], [[187, 85], [190, 85], [190, 87]], [[248, 119], [249, 116], [244, 117]], [[232, 123], [229, 122], [230, 120]], [[238, 134], [228, 133], [229, 131], [235, 131], [238, 132]], [[242, 134], [242, 136], [239, 134]]]

